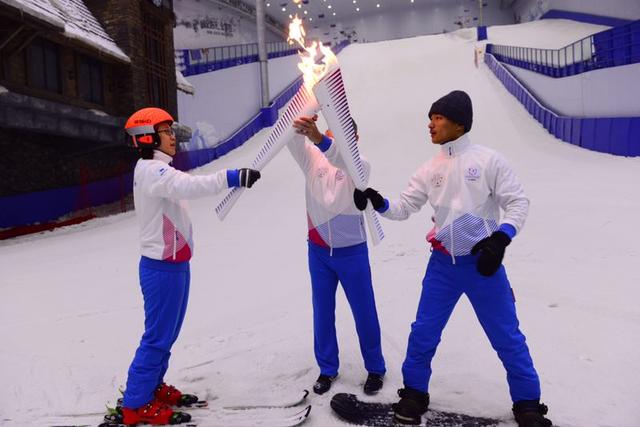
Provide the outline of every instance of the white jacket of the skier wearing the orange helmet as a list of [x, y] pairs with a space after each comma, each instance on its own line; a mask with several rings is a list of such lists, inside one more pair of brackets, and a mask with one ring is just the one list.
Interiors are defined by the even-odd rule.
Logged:
[[155, 150], [153, 159], [140, 159], [133, 172], [133, 202], [140, 226], [143, 256], [183, 262], [193, 254], [193, 233], [183, 199], [217, 194], [227, 184], [227, 171], [191, 176], [169, 165], [171, 156]]

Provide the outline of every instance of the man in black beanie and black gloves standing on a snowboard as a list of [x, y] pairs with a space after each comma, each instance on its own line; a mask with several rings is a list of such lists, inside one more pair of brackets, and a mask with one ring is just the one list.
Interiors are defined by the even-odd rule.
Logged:
[[429, 119], [431, 142], [440, 152], [416, 171], [398, 200], [389, 201], [373, 188], [354, 193], [359, 209], [370, 201], [391, 220], [407, 219], [427, 201], [434, 209], [427, 234], [432, 253], [402, 365], [404, 388], [394, 404], [395, 420], [420, 424], [429, 406], [431, 360], [458, 299], [466, 294], [507, 371], [518, 426], [551, 426], [502, 265], [505, 248], [524, 225], [529, 199], [502, 156], [471, 143], [469, 95], [456, 90], [443, 96], [431, 106]]

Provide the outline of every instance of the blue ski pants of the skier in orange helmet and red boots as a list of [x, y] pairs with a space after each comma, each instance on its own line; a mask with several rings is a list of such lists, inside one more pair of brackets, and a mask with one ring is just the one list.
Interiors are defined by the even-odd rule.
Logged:
[[123, 406], [139, 408], [164, 382], [171, 347], [178, 338], [189, 300], [189, 262], [140, 259], [144, 334], [129, 367]]

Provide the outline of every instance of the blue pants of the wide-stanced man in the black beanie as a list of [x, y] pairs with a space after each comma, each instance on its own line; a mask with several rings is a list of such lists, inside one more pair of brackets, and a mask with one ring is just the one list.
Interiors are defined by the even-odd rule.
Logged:
[[[433, 251], [422, 282], [422, 295], [411, 325], [407, 356], [402, 364], [404, 384], [428, 391], [433, 358], [442, 330], [462, 294], [473, 306], [491, 346], [507, 371], [513, 402], [540, 398], [540, 380], [526, 338], [520, 332], [515, 299], [504, 266], [491, 277], [476, 271], [475, 256], [451, 257]], [[470, 357], [473, 357], [470, 355]]]

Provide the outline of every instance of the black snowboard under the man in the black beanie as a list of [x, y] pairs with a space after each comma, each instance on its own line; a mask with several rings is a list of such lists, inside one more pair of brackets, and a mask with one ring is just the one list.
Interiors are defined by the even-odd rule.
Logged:
[[[354, 394], [338, 393], [331, 398], [331, 408], [340, 418], [352, 424], [370, 427], [402, 426], [393, 417], [391, 403], [362, 402]], [[422, 417], [421, 425], [428, 427], [490, 427], [503, 420], [475, 417], [429, 409]]]

